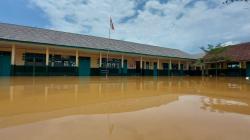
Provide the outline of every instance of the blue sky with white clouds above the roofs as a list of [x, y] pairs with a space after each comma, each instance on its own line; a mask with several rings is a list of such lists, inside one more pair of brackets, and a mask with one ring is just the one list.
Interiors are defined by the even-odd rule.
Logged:
[[1, 0], [0, 22], [202, 52], [250, 42], [250, 2], [225, 0]]

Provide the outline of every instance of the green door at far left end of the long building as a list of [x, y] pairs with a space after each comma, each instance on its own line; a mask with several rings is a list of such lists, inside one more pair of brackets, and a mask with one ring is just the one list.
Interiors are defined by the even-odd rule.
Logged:
[[0, 76], [10, 76], [10, 56], [0, 55]]

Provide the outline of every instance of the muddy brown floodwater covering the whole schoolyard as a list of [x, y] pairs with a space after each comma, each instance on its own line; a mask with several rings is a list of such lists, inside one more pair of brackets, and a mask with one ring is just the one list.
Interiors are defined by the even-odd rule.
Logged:
[[249, 140], [250, 81], [0, 78], [1, 140]]

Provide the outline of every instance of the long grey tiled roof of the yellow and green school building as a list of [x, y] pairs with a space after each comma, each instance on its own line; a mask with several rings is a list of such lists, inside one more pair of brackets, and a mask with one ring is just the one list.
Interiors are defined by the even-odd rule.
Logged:
[[0, 23], [0, 40], [195, 59], [192, 55], [178, 49], [6, 23]]

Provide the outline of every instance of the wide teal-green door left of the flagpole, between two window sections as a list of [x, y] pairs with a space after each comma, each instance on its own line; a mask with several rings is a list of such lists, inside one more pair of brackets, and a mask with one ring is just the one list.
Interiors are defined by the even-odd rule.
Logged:
[[90, 58], [81, 57], [79, 58], [79, 76], [90, 75]]

